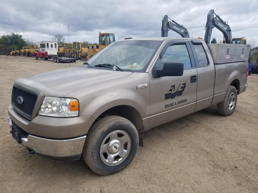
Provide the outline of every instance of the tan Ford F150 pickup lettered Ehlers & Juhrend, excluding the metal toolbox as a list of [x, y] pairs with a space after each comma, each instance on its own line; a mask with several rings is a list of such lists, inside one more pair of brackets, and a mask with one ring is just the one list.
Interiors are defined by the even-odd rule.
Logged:
[[214, 64], [200, 39], [117, 41], [82, 67], [18, 78], [10, 133], [30, 154], [82, 156], [108, 175], [130, 164], [150, 128], [214, 104], [220, 115], [231, 115], [247, 76], [247, 60]]

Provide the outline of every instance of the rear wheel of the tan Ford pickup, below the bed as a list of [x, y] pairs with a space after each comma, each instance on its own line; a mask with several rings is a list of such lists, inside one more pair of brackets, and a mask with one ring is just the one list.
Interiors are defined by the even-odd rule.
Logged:
[[225, 98], [217, 104], [217, 111], [220, 115], [231, 115], [237, 106], [237, 90], [235, 86], [229, 86]]

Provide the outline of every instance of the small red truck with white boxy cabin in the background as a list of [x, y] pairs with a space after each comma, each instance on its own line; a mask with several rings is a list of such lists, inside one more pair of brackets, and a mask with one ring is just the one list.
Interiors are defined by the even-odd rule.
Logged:
[[49, 55], [57, 55], [58, 47], [57, 42], [53, 41], [41, 41], [38, 42], [39, 50], [35, 52], [35, 59], [43, 58], [43, 60], [48, 60], [52, 56]]

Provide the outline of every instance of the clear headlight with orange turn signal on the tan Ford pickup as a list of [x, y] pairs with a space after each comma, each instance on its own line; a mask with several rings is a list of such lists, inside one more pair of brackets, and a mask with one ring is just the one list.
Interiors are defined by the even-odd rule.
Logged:
[[76, 117], [79, 102], [76, 99], [45, 96], [38, 115], [50, 117]]

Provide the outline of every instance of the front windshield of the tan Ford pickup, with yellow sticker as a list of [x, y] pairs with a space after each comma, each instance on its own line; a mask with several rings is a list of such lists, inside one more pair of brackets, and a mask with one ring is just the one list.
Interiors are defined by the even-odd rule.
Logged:
[[83, 67], [113, 70], [113, 66], [100, 65], [112, 64], [123, 71], [145, 72], [160, 44], [160, 41], [150, 40], [114, 42], [89, 59]]

